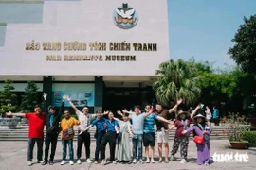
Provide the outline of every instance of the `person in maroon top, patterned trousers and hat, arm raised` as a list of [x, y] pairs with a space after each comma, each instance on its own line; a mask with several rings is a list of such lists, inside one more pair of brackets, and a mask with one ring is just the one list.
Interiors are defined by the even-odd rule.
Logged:
[[195, 110], [192, 111], [191, 115], [189, 115], [190, 113], [188, 111], [183, 111], [182, 109], [177, 111], [177, 120], [175, 121], [174, 125], [169, 128], [169, 130], [171, 130], [176, 127], [174, 145], [171, 151], [171, 161], [174, 161], [174, 155], [177, 153], [180, 144], [180, 156], [182, 158], [180, 163], [187, 162], [189, 135], [182, 134], [182, 131], [190, 127], [192, 118], [199, 108], [200, 106], [197, 106]]

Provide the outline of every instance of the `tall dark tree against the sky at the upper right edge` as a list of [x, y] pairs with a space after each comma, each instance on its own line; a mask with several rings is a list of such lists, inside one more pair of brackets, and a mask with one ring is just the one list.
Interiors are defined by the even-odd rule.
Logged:
[[232, 39], [235, 44], [229, 48], [228, 54], [243, 71], [256, 73], [256, 14], [249, 19], [244, 17], [244, 22]]

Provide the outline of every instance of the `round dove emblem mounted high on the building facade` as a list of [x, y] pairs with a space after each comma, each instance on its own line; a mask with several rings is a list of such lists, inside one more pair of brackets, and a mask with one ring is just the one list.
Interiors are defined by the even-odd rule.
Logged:
[[137, 12], [135, 8], [122, 4], [114, 11], [114, 23], [122, 29], [130, 29], [137, 25]]

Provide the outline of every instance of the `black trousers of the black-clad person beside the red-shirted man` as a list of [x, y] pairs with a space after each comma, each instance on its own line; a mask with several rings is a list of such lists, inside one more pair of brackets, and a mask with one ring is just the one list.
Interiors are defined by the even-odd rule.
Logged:
[[45, 138], [45, 161], [48, 161], [48, 154], [49, 154], [49, 146], [51, 144], [50, 149], [50, 161], [54, 160], [57, 141], [58, 141], [58, 135], [59, 134], [46, 134]]

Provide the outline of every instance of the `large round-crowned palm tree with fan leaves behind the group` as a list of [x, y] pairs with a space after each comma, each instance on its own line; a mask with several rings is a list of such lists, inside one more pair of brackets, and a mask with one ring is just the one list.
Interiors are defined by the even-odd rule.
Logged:
[[194, 62], [173, 59], [163, 62], [156, 71], [157, 81], [153, 83], [156, 98], [159, 102], [169, 105], [183, 98], [183, 103], [190, 106], [198, 101], [201, 95], [200, 77]]

